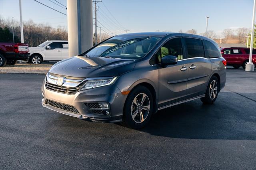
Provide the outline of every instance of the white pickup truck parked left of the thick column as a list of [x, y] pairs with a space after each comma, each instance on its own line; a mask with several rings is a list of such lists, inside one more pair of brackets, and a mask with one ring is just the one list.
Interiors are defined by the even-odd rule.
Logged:
[[40, 64], [42, 61], [60, 61], [68, 58], [68, 41], [46, 41], [37, 47], [29, 47], [29, 63]]

